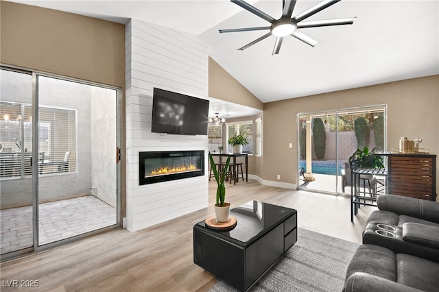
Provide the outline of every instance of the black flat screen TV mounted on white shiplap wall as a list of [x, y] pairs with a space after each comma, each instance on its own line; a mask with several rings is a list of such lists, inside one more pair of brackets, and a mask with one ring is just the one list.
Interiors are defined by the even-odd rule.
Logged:
[[207, 135], [209, 101], [154, 88], [153, 133]]

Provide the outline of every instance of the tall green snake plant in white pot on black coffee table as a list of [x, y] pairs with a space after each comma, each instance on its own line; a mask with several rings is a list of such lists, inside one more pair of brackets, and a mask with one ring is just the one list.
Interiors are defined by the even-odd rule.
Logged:
[[218, 222], [227, 222], [230, 218], [230, 204], [224, 202], [226, 199], [226, 184], [224, 180], [226, 180], [226, 173], [228, 169], [228, 165], [230, 164], [230, 156], [228, 156], [226, 160], [226, 165], [224, 165], [224, 170], [219, 175], [217, 166], [215, 165], [215, 161], [213, 161], [213, 157], [211, 152], [209, 151], [209, 160], [211, 161], [211, 167], [213, 171], [213, 175], [215, 175], [215, 180], [217, 181], [217, 201], [215, 204], [215, 219]]

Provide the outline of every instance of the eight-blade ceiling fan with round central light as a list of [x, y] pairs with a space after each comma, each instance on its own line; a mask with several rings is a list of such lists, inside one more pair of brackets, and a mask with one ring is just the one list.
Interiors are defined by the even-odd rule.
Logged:
[[[314, 40], [313, 38], [307, 36], [306, 34], [303, 34], [302, 32], [299, 32], [299, 28], [308, 28], [308, 27], [322, 27], [322, 26], [330, 26], [330, 25], [350, 25], [353, 24], [356, 17], [346, 18], [346, 19], [327, 19], [322, 21], [303, 21], [304, 19], [307, 19], [309, 16], [316, 14], [319, 11], [324, 10], [325, 8], [328, 8], [329, 6], [337, 3], [341, 0], [324, 0], [317, 5], [314, 5], [313, 7], [309, 8], [308, 10], [305, 10], [304, 12], [300, 12], [294, 17], [291, 17], [294, 10], [294, 5], [296, 5], [296, 0], [283, 0], [283, 10], [282, 10], [282, 16], [280, 19], [274, 19], [272, 16], [266, 14], [265, 12], [255, 8], [254, 6], [248, 4], [246, 1], [242, 0], [231, 0], [233, 3], [241, 6], [245, 10], [248, 10], [249, 12], [252, 12], [253, 14], [261, 17], [261, 19], [265, 19], [265, 21], [268, 21], [271, 23], [270, 26], [264, 26], [264, 27], [244, 27], [244, 28], [235, 28], [235, 29], [219, 29], [220, 33], [225, 32], [251, 32], [255, 30], [266, 30], [270, 29], [270, 32], [268, 34], [264, 34], [260, 38], [257, 38], [256, 40], [253, 40], [252, 42], [248, 43], [244, 47], [239, 48], [239, 50], [243, 51], [244, 49], [247, 49], [248, 47], [251, 47], [252, 45], [256, 44], [257, 42], [260, 42], [261, 40], [264, 40], [265, 38], [268, 38], [269, 36], [276, 36], [276, 42], [274, 42], [274, 49], [273, 49], [273, 55], [276, 55], [279, 53], [279, 50], [281, 49], [282, 41], [285, 36], [291, 35], [294, 36], [294, 38], [297, 38], [298, 40], [302, 40], [302, 42], [307, 43], [308, 45], [314, 47], [319, 42], [317, 40]], [[303, 22], [302, 22], [303, 21]]]

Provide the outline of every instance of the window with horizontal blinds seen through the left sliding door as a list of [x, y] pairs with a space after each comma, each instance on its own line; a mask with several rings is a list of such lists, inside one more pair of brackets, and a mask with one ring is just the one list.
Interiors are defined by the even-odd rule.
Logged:
[[[32, 106], [1, 102], [0, 112], [0, 177], [32, 175]], [[40, 174], [75, 171], [75, 110], [40, 107], [39, 115]]]

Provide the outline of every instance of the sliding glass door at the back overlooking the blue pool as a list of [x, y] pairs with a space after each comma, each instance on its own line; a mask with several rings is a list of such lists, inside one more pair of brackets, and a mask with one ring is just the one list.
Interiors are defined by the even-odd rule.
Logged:
[[298, 188], [350, 194], [349, 157], [385, 149], [385, 116], [384, 105], [298, 114]]

